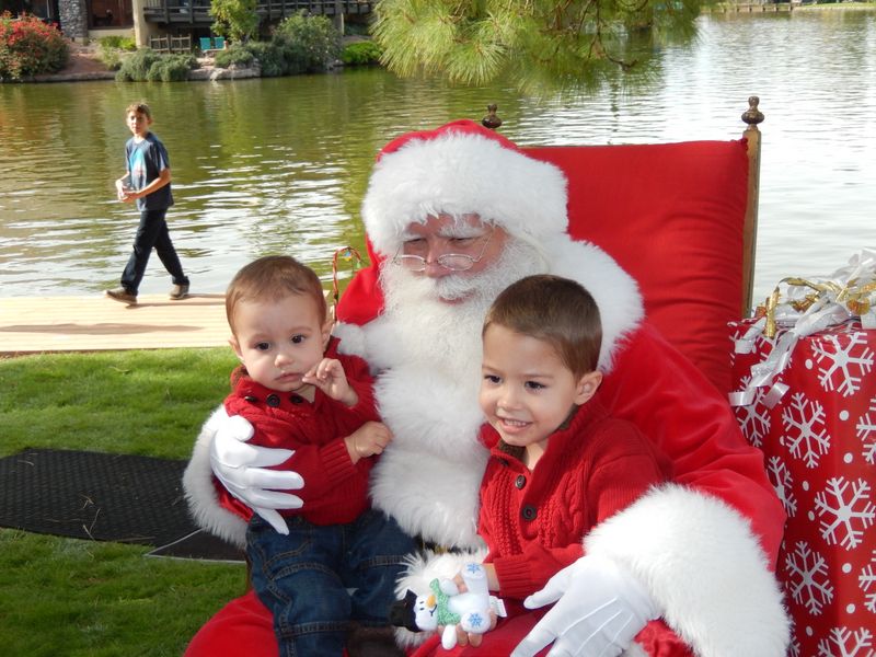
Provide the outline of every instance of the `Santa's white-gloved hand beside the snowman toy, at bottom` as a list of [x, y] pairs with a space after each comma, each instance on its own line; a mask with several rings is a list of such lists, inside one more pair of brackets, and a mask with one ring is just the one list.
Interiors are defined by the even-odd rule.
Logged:
[[615, 657], [659, 614], [647, 591], [614, 562], [583, 556], [529, 596], [523, 606], [556, 602], [511, 657], [531, 657], [554, 643], [548, 657]]

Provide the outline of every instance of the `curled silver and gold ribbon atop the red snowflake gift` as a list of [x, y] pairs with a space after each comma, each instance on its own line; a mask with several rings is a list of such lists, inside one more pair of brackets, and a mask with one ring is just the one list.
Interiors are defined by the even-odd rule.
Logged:
[[[787, 300], [782, 303], [780, 289], [783, 284], [787, 286]], [[780, 326], [787, 326], [787, 330], [775, 342], [769, 356], [751, 366], [751, 379], [745, 389], [729, 394], [730, 405], [748, 406], [754, 402], [759, 389], [770, 387], [761, 402], [768, 408], [775, 406], [787, 392], [787, 385], [775, 379], [791, 361], [797, 342], [852, 318], [861, 318], [864, 328], [876, 328], [874, 307], [876, 252], [871, 250], [853, 255], [846, 267], [826, 279], [783, 278], [764, 306], [758, 309], [758, 321], [736, 341], [735, 350], [750, 354], [761, 332], [764, 337], [773, 339]]]

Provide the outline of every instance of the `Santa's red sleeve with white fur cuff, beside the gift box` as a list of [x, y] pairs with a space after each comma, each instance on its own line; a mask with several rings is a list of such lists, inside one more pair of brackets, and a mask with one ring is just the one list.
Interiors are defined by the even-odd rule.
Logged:
[[671, 458], [675, 481], [600, 523], [585, 552], [646, 584], [698, 654], [784, 654], [772, 572], [785, 514], [723, 395], [647, 324], [624, 338], [599, 394]]

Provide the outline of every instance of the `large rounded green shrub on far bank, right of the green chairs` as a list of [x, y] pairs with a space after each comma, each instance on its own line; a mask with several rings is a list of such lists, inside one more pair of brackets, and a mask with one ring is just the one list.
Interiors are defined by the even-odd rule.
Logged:
[[331, 67], [341, 54], [341, 35], [326, 16], [300, 11], [284, 19], [274, 32], [290, 73], [310, 73]]

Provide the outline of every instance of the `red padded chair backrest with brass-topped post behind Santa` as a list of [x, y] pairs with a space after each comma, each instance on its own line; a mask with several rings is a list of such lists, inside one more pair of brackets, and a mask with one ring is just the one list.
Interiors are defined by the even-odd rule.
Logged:
[[569, 233], [638, 281], [648, 321], [723, 392], [727, 323], [751, 306], [763, 116], [749, 103], [740, 140], [525, 149], [568, 176]]

